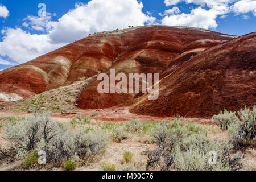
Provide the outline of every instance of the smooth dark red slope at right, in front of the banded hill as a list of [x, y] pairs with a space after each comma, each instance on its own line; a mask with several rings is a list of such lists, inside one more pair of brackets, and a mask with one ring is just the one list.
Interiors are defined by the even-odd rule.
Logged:
[[[172, 67], [172, 65], [171, 65]], [[256, 33], [207, 49], [160, 81], [159, 99], [139, 98], [132, 113], [206, 117], [256, 105]]]

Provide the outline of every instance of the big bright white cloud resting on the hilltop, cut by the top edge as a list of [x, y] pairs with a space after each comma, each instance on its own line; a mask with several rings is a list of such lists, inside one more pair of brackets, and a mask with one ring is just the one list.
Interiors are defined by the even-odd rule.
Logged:
[[55, 43], [72, 42], [93, 32], [155, 22], [156, 19], [144, 14], [142, 8], [142, 2], [138, 3], [137, 0], [92, 0], [88, 4], [80, 3], [58, 22], [52, 22], [54, 28], [49, 32], [49, 37]]

